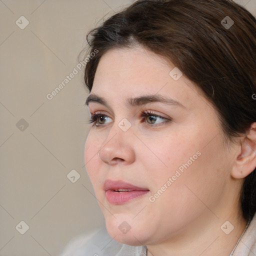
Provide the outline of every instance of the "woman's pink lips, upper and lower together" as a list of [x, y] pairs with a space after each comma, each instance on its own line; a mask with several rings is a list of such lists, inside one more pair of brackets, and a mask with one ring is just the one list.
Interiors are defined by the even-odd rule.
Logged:
[[[135, 186], [122, 180], [110, 179], [105, 180], [103, 189], [105, 190], [106, 199], [111, 204], [123, 204], [149, 191], [147, 188]], [[113, 191], [117, 189], [128, 189], [130, 191]]]

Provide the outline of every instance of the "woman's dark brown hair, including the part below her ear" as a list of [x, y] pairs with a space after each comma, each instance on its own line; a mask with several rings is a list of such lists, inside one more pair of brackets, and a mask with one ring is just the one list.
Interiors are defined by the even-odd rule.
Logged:
[[[231, 0], [138, 0], [86, 35], [90, 53], [98, 53], [86, 64], [85, 84], [91, 91], [108, 49], [138, 43], [195, 83], [231, 140], [256, 121], [255, 35], [256, 19]], [[244, 178], [240, 203], [250, 220], [256, 212], [256, 169]]]

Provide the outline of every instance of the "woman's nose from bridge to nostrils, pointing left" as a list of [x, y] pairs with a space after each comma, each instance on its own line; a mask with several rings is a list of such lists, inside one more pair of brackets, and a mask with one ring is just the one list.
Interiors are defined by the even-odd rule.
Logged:
[[133, 137], [131, 128], [123, 131], [114, 124], [98, 150], [99, 158], [109, 165], [131, 164], [135, 160]]

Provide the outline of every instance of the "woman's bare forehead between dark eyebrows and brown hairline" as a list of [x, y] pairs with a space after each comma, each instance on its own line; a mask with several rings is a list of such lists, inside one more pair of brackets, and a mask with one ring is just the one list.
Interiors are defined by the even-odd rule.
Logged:
[[[91, 94], [113, 100], [160, 94], [189, 105], [198, 97], [194, 85], [183, 74], [175, 80], [170, 61], [142, 47], [113, 48], [100, 58]], [[189, 100], [188, 100], [189, 99]]]

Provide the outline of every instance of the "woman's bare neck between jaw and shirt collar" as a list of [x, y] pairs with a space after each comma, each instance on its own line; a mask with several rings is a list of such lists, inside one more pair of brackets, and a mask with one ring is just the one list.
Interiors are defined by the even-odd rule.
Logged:
[[[223, 225], [227, 220], [233, 226], [232, 231], [231, 224]], [[246, 225], [247, 221], [241, 215], [212, 217], [210, 221], [200, 217], [175, 237], [147, 245], [147, 256], [229, 256]]]

